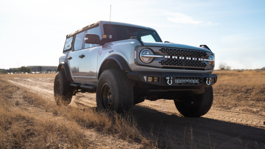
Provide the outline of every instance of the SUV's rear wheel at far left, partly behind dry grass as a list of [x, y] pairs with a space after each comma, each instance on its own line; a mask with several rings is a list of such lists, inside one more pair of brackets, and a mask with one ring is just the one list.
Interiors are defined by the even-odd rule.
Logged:
[[57, 72], [53, 85], [54, 99], [56, 103], [68, 105], [72, 100], [73, 91], [74, 88], [70, 86], [70, 82], [67, 80], [64, 72]]

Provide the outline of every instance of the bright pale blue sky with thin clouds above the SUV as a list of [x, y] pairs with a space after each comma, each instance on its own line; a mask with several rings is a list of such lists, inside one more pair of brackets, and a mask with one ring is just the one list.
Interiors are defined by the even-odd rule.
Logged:
[[207, 45], [232, 69], [265, 67], [265, 0], [0, 0], [0, 69], [57, 66], [66, 35], [98, 21]]

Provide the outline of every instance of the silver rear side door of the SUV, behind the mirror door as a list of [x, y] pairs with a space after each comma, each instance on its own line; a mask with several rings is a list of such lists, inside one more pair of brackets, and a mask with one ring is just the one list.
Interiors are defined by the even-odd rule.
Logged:
[[70, 67], [71, 75], [75, 82], [79, 82], [79, 53], [83, 47], [85, 31], [77, 34], [74, 40], [73, 50], [70, 51], [68, 56], [68, 64]]

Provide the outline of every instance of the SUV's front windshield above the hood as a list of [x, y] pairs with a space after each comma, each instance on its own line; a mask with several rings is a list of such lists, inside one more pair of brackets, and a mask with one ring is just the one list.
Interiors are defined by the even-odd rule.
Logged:
[[137, 36], [143, 42], [162, 42], [158, 33], [150, 29], [107, 24], [103, 25], [103, 27], [104, 34], [111, 35], [110, 38], [113, 41], [131, 39], [131, 37]]

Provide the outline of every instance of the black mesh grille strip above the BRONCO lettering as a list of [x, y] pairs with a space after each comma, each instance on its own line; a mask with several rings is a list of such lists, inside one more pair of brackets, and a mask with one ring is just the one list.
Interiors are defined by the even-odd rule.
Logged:
[[207, 55], [207, 53], [204, 51], [196, 51], [196, 50], [161, 48], [159, 49], [159, 51], [161, 51], [162, 53], [166, 53], [167, 55], [177, 55], [177, 56], [205, 57]]

